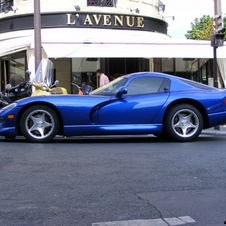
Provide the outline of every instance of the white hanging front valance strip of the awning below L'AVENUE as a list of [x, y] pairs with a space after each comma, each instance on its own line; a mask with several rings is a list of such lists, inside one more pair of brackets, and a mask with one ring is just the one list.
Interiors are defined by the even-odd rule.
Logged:
[[[43, 42], [42, 45], [47, 55], [54, 58], [213, 58], [213, 50], [208, 44]], [[223, 49], [218, 58], [226, 58], [226, 48]]]

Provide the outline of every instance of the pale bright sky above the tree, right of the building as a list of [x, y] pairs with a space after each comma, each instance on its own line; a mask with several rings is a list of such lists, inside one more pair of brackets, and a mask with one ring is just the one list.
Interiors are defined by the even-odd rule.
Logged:
[[[168, 35], [173, 38], [186, 38], [195, 18], [204, 15], [214, 16], [214, 0], [162, 0], [165, 7], [163, 17], [168, 23]], [[226, 16], [226, 0], [221, 0], [223, 16]], [[174, 20], [173, 18], [174, 17]]]

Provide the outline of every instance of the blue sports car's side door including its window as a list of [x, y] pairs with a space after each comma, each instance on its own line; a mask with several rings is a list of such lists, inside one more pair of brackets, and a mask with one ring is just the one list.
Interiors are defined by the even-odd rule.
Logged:
[[126, 95], [97, 110], [98, 124], [150, 124], [169, 96], [169, 85], [169, 79], [161, 77], [133, 79]]

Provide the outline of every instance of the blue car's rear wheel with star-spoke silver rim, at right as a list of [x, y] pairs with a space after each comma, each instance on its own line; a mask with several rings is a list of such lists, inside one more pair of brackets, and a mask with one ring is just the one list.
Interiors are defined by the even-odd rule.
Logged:
[[173, 141], [195, 140], [203, 129], [202, 115], [189, 104], [174, 106], [167, 114], [165, 128], [168, 137]]

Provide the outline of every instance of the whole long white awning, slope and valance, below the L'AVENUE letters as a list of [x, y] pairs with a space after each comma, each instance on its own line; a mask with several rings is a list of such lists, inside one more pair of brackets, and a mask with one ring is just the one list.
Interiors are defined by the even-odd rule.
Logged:
[[[44, 30], [42, 46], [54, 58], [213, 58], [210, 41], [173, 39], [145, 31]], [[218, 48], [217, 57], [226, 58], [226, 46]]]

